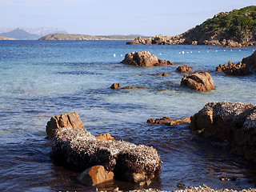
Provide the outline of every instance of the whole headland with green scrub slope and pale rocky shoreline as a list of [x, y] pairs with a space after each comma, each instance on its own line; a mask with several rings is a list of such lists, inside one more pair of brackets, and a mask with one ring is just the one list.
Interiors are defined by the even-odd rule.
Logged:
[[256, 6], [222, 12], [183, 34], [135, 38], [134, 44], [256, 46]]

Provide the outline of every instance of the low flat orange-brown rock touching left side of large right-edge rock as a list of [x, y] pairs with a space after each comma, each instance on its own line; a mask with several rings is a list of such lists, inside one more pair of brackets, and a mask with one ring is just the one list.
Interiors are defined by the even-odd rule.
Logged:
[[181, 119], [180, 118], [174, 119], [169, 117], [163, 117], [163, 118], [157, 118], [157, 119], [149, 118], [147, 122], [152, 124], [158, 124], [158, 125], [165, 124], [167, 126], [178, 126], [182, 124], [190, 124], [190, 117], [181, 118]]

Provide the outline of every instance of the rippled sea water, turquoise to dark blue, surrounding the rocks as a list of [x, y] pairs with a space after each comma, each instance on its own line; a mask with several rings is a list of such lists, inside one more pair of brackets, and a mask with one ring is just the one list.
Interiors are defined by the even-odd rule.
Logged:
[[[148, 50], [174, 66], [135, 67], [120, 63], [133, 51]], [[186, 118], [208, 102], [256, 104], [256, 77], [216, 72], [219, 64], [240, 62], [256, 47], [126, 45], [125, 41], [0, 41], [0, 191], [99, 191], [178, 186], [254, 188], [254, 163], [226, 150], [225, 142], [198, 138], [188, 125], [147, 123], [148, 118]], [[208, 71], [215, 89], [180, 86], [178, 66]], [[167, 73], [163, 77], [158, 74]], [[111, 90], [121, 86], [145, 89]], [[57, 114], [78, 112], [86, 130], [153, 146], [162, 170], [150, 186], [112, 181], [83, 186], [82, 172], [50, 158], [46, 123]], [[222, 178], [226, 181], [222, 181]]]

